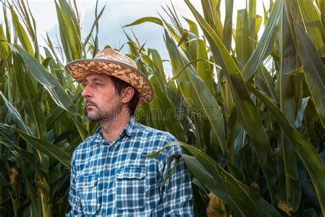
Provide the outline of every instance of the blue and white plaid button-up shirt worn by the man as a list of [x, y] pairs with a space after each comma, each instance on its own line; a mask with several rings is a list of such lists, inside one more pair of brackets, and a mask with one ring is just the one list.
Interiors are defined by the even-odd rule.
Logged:
[[180, 146], [166, 148], [156, 158], [143, 157], [169, 141], [176, 138], [134, 117], [112, 142], [101, 137], [99, 128], [73, 152], [67, 216], [194, 216], [184, 161], [163, 185], [169, 159], [182, 153]]

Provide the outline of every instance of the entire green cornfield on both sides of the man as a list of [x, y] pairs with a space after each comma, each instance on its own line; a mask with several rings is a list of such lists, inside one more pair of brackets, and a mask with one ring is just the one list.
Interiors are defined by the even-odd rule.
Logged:
[[[71, 153], [97, 128], [64, 65], [98, 52], [104, 9], [82, 38], [76, 6], [56, 1], [56, 49], [48, 36], [38, 46], [28, 5], [13, 2], [2, 3], [0, 24], [0, 216], [64, 216]], [[128, 56], [155, 92], [136, 119], [181, 141], [197, 216], [206, 216], [209, 198], [215, 216], [322, 216], [325, 1], [271, 0], [263, 16], [256, 0], [237, 12], [225, 3], [224, 21], [220, 0], [202, 0], [203, 14], [185, 0], [195, 21], [169, 5], [169, 21], [125, 26], [160, 25], [173, 73], [166, 78], [158, 51], [127, 35]]]

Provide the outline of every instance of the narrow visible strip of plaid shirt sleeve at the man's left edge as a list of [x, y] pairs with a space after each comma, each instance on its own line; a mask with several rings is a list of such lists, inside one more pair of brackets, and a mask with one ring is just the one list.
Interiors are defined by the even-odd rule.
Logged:
[[80, 203], [80, 196], [75, 186], [75, 161], [74, 157], [71, 159], [71, 176], [70, 176], [70, 190], [69, 190], [69, 203], [71, 205], [68, 216], [84, 216], [82, 212], [82, 204]]

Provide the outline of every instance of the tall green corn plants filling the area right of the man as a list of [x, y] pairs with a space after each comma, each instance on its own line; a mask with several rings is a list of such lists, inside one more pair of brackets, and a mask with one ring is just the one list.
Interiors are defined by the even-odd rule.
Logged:
[[[171, 23], [143, 17], [126, 26], [165, 29], [173, 78], [159, 80], [159, 58], [143, 53], [156, 87], [149, 109], [169, 100], [177, 111], [184, 100], [189, 115], [160, 125], [145, 119], [182, 141], [197, 214], [204, 215], [208, 192], [224, 216], [324, 214], [324, 1], [271, 1], [260, 39], [254, 0], [237, 12], [233, 30], [233, 1], [226, 1], [224, 25], [220, 1], [202, 0], [203, 14], [185, 3], [198, 26], [185, 19], [183, 27], [172, 7], [165, 9]], [[143, 110], [140, 117], [148, 115]]]

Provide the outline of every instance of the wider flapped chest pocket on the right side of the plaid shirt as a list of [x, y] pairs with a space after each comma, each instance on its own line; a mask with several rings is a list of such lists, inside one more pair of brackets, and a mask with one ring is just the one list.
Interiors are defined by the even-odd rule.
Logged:
[[145, 168], [123, 168], [115, 180], [117, 209], [141, 209], [145, 206]]

